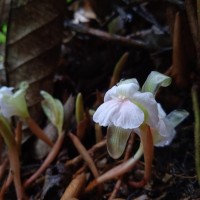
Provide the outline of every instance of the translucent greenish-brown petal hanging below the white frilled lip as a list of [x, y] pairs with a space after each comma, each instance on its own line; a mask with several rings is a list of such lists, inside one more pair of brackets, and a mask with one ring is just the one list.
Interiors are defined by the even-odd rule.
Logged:
[[131, 129], [110, 126], [107, 129], [107, 150], [109, 155], [118, 159], [124, 153]]

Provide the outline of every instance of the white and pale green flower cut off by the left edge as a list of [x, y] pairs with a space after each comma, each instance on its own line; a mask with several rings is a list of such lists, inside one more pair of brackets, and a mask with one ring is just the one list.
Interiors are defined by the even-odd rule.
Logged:
[[11, 116], [29, 117], [25, 99], [27, 85], [23, 85], [15, 93], [13, 93], [13, 89], [12, 87], [6, 86], [0, 88], [0, 109], [2, 114], [6, 118], [10, 118]]

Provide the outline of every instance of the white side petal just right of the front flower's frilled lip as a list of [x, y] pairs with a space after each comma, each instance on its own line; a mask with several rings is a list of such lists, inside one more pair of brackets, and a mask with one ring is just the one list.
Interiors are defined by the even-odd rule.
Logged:
[[158, 117], [157, 102], [153, 94], [150, 92], [144, 92], [144, 93], [136, 92], [133, 98], [135, 101], [142, 104], [144, 108], [147, 110], [148, 117], [146, 123], [150, 127], [155, 128], [158, 124], [159, 117]]

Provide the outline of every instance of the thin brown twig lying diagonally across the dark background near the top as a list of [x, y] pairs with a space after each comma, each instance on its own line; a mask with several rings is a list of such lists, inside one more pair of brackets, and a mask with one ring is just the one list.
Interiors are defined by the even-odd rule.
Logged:
[[97, 30], [94, 28], [88, 28], [80, 24], [73, 24], [71, 22], [67, 23], [67, 27], [76, 32], [97, 36], [110, 42], [115, 42], [125, 46], [133, 46], [139, 49], [147, 49], [147, 45], [143, 41], [128, 39], [120, 35], [110, 34], [105, 31]]

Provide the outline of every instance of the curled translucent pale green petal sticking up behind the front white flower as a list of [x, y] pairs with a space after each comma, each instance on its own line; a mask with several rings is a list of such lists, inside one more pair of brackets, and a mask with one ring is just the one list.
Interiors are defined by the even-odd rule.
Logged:
[[171, 78], [169, 76], [152, 71], [142, 86], [142, 92], [151, 92], [155, 95], [160, 86], [167, 87], [170, 84]]

